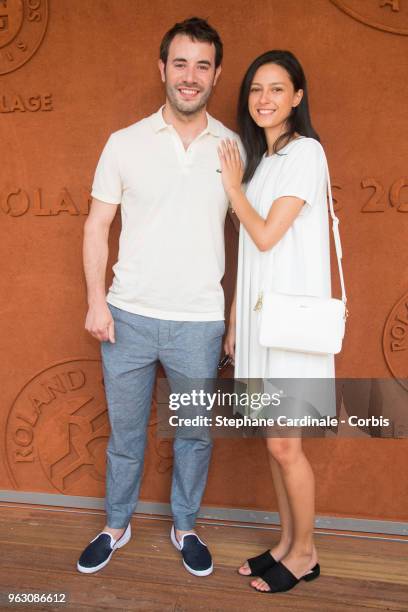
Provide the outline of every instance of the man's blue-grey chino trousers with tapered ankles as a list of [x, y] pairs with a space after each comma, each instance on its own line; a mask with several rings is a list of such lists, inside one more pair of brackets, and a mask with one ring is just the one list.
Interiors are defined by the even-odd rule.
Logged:
[[[170, 389], [186, 379], [216, 378], [224, 321], [165, 321], [108, 305], [114, 344], [102, 342], [111, 436], [107, 447], [107, 525], [123, 528], [135, 510], [143, 474], [153, 386], [160, 361]], [[171, 508], [176, 529], [194, 527], [207, 482], [211, 439], [176, 436]]]

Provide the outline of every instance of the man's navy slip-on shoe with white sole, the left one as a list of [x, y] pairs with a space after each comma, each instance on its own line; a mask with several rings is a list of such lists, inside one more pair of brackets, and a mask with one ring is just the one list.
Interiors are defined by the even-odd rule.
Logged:
[[129, 542], [130, 536], [130, 523], [118, 540], [115, 540], [110, 533], [102, 531], [96, 538], [91, 540], [79, 557], [77, 570], [83, 574], [93, 574], [99, 571], [109, 563], [115, 550], [122, 548], [122, 546]]

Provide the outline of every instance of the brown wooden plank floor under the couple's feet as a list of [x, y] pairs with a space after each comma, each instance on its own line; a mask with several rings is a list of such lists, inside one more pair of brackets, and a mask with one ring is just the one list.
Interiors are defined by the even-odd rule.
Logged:
[[236, 573], [248, 556], [277, 540], [276, 529], [201, 523], [214, 573], [188, 574], [162, 517], [132, 520], [133, 537], [97, 574], [76, 570], [78, 555], [103, 527], [99, 511], [0, 504], [0, 610], [8, 593], [66, 593], [66, 604], [15, 604], [29, 610], [301, 610], [408, 611], [408, 540], [363, 534], [316, 533], [322, 568], [318, 580], [289, 593], [254, 592]]

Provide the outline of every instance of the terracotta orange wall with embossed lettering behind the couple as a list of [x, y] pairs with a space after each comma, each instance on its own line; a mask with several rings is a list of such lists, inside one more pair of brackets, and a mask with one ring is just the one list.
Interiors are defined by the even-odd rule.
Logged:
[[[231, 127], [256, 55], [288, 48], [301, 59], [344, 243], [351, 317], [338, 375], [408, 377], [406, 2], [0, 0], [1, 489], [104, 495], [99, 346], [83, 329], [88, 189], [108, 135], [162, 103], [161, 36], [193, 14], [224, 39], [210, 110]], [[119, 229], [116, 219], [111, 262]], [[230, 297], [230, 222], [226, 235]], [[142, 498], [167, 501], [171, 445], [155, 438], [154, 417], [149, 431]], [[306, 448], [318, 513], [408, 520], [407, 440]], [[264, 460], [259, 440], [218, 441], [205, 503], [275, 510]]]

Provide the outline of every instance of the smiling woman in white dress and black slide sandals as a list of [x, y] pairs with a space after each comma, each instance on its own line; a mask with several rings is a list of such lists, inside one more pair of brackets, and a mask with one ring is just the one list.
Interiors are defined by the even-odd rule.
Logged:
[[[235, 360], [236, 378], [332, 378], [331, 355], [262, 347], [254, 310], [263, 289], [330, 296], [326, 158], [311, 124], [305, 76], [292, 53], [268, 51], [251, 64], [238, 122], [245, 167], [234, 142], [219, 148], [224, 188], [241, 222], [225, 351]], [[278, 592], [320, 573], [313, 543], [314, 476], [300, 436], [267, 438], [267, 449], [281, 537], [239, 573], [257, 576], [251, 586], [258, 591]]]

